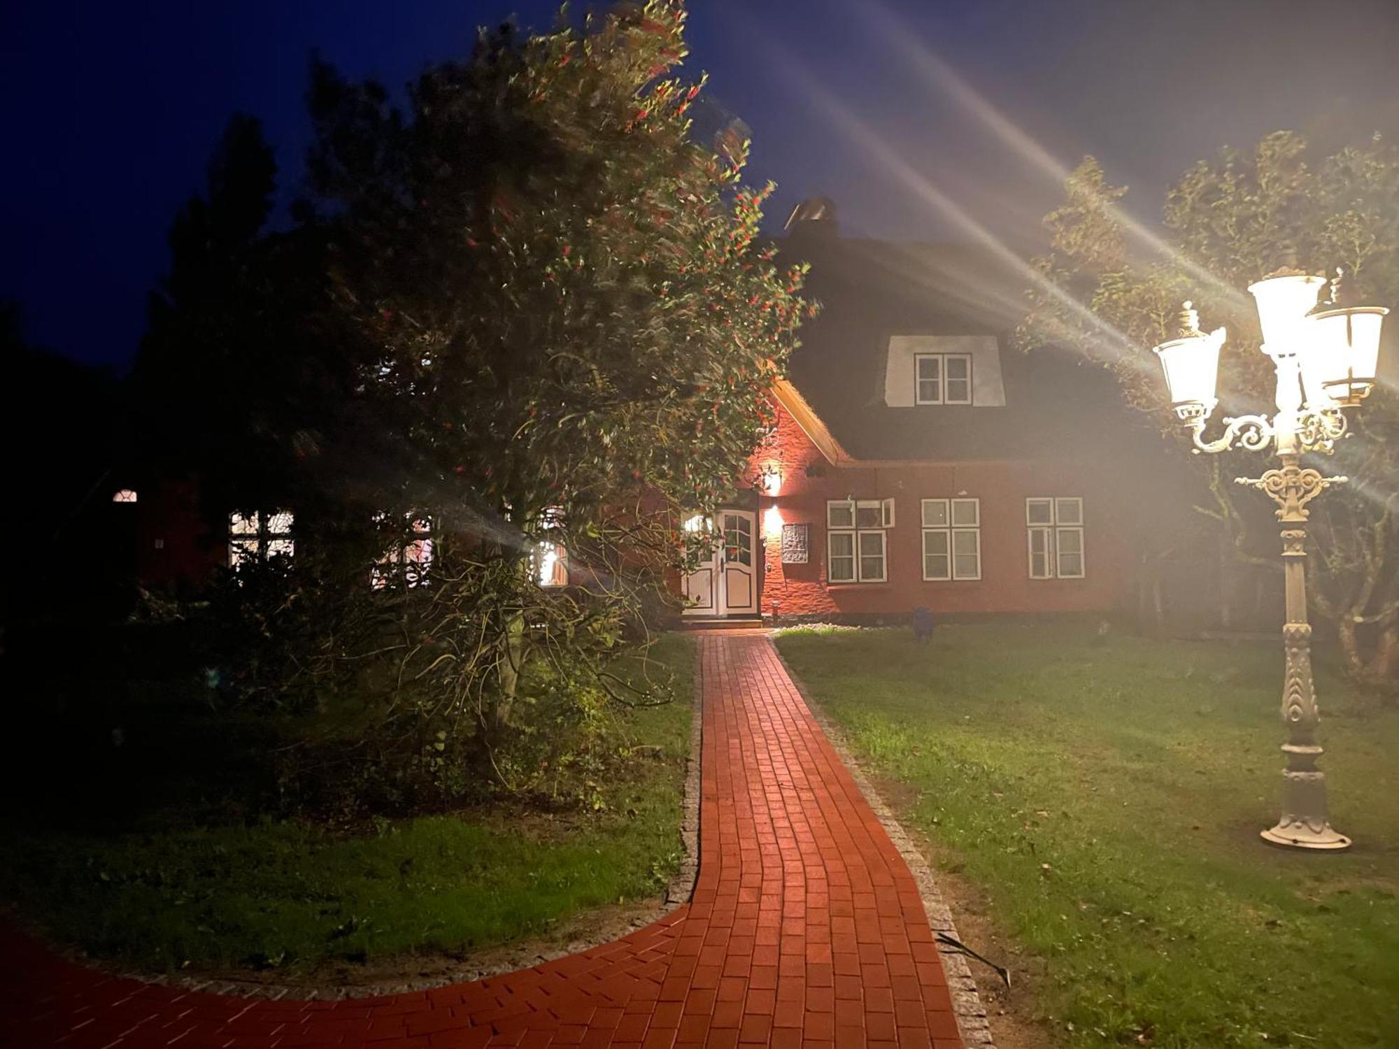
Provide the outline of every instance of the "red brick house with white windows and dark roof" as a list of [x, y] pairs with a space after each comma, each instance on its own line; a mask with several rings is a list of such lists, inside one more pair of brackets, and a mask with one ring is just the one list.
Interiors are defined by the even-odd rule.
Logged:
[[1122, 606], [1150, 459], [1123, 448], [1109, 376], [1013, 348], [1024, 278], [988, 257], [841, 239], [828, 203], [803, 208], [785, 250], [811, 263], [823, 312], [774, 389], [754, 491], [718, 512], [725, 543], [683, 582], [684, 615]]

